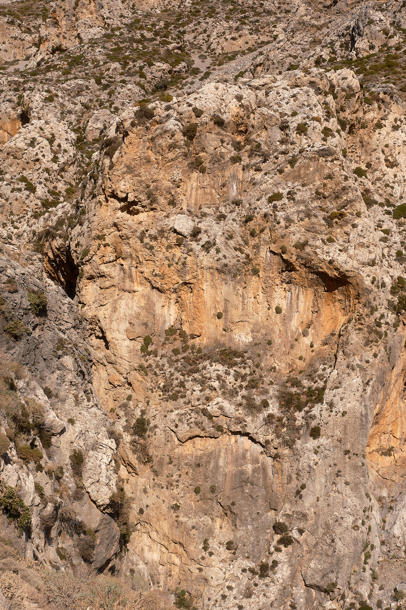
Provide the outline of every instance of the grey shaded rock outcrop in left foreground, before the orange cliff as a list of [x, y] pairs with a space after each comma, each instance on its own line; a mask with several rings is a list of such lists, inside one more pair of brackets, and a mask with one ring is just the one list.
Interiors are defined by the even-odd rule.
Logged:
[[[90, 557], [95, 567], [114, 569], [119, 529], [108, 512], [103, 514], [96, 506], [108, 509], [116, 490], [111, 459], [116, 445], [108, 439], [108, 420], [93, 391], [83, 321], [41, 267], [41, 256], [35, 253], [24, 253], [19, 262], [4, 251], [0, 255], [5, 287], [0, 301], [1, 432], [11, 441], [0, 458], [1, 482], [16, 488], [30, 509], [28, 556], [61, 567], [58, 547], [74, 553], [83, 530], [91, 528], [96, 533]], [[45, 295], [46, 305], [34, 312], [35, 294]], [[21, 337], [8, 330], [15, 321], [23, 325]], [[15, 368], [16, 362], [23, 367]], [[21, 423], [24, 410], [31, 422], [27, 429], [21, 428], [26, 426]], [[23, 462], [21, 447], [39, 452], [40, 460]], [[83, 478], [75, 481], [69, 459], [73, 451], [83, 455]], [[108, 488], [103, 486], [107, 481]]]

